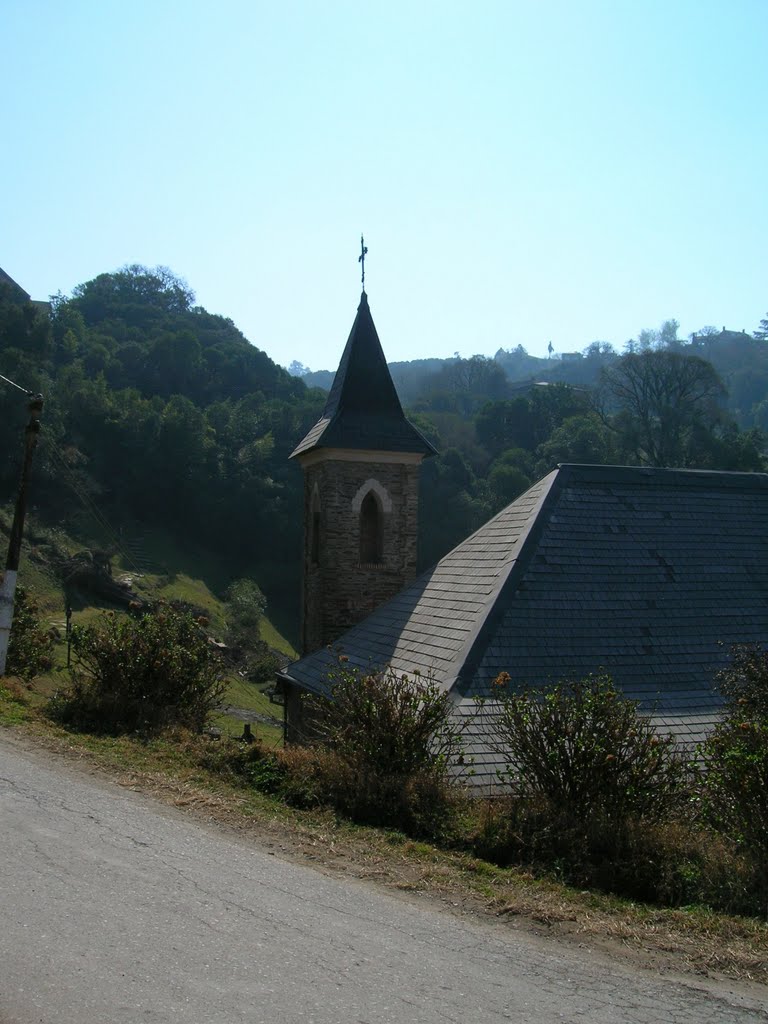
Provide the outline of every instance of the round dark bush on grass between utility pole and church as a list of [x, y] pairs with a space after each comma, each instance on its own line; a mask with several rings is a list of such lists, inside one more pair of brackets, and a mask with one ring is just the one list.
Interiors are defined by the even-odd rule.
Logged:
[[224, 693], [221, 662], [199, 624], [171, 608], [139, 617], [102, 615], [75, 627], [71, 688], [51, 714], [76, 728], [153, 734], [169, 726], [200, 731]]

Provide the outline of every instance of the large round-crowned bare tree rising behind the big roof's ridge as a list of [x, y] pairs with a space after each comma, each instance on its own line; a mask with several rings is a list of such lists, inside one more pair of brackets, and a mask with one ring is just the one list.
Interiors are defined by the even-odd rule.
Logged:
[[640, 462], [689, 466], [695, 462], [694, 428], [711, 432], [722, 420], [725, 386], [711, 362], [669, 349], [630, 352], [600, 377], [604, 407]]

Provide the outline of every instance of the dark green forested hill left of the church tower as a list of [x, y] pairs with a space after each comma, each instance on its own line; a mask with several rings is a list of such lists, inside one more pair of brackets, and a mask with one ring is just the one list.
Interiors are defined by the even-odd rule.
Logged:
[[[319, 415], [308, 390], [162, 268], [100, 274], [50, 319], [0, 292], [0, 373], [45, 396], [33, 501], [54, 521], [98, 510], [160, 525], [298, 607], [301, 472]], [[17, 479], [26, 403], [5, 391], [0, 485]], [[130, 528], [130, 527], [128, 527]]]

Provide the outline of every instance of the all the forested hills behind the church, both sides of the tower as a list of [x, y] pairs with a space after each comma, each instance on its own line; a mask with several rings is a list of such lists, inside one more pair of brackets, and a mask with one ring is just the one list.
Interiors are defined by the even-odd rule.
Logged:
[[[493, 359], [394, 364], [409, 416], [440, 453], [422, 473], [422, 566], [560, 462], [762, 469], [765, 333], [708, 329], [681, 342], [668, 322], [621, 355], [595, 342], [568, 358], [518, 346]], [[45, 396], [39, 513], [168, 529], [215, 553], [232, 579], [256, 579], [295, 636], [301, 471], [288, 457], [325, 393], [305, 383], [319, 375], [292, 372], [302, 377], [196, 306], [163, 268], [100, 274], [57, 297], [50, 316], [0, 285], [0, 374]], [[4, 394], [8, 500], [26, 403]]]

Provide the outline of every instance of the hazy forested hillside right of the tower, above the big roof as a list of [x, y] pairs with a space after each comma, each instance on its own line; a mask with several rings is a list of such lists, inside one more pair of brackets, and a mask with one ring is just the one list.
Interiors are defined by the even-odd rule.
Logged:
[[[667, 321], [624, 352], [595, 341], [538, 358], [392, 362], [403, 403], [440, 455], [422, 473], [423, 564], [450, 550], [560, 462], [764, 468], [768, 322], [755, 335]], [[333, 375], [304, 379], [328, 387]]]

